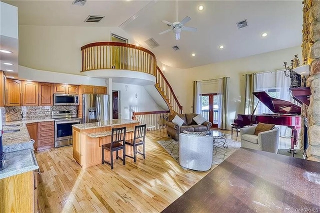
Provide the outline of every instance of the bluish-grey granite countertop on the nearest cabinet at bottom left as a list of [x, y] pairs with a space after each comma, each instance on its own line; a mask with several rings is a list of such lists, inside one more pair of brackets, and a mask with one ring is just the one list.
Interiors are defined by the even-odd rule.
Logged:
[[0, 170], [0, 179], [38, 169], [33, 150], [27, 148], [5, 153], [6, 166]]

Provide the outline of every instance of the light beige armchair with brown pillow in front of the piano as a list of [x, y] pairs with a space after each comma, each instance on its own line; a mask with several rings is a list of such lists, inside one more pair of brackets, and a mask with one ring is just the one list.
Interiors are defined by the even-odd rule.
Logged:
[[241, 147], [277, 153], [279, 128], [274, 127], [271, 130], [262, 131], [255, 135], [255, 127], [256, 125], [240, 128]]

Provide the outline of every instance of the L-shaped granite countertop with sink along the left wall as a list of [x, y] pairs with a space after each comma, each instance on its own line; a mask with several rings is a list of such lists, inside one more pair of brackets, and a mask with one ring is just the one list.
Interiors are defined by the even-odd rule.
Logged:
[[[3, 126], [3, 131], [20, 129], [19, 131], [5, 132], [2, 134], [3, 151], [11, 152], [30, 148], [33, 150], [33, 140], [30, 138], [26, 123], [53, 121], [54, 119], [43, 119], [43, 120], [19, 120], [6, 122]], [[15, 126], [18, 125], [18, 126]]]

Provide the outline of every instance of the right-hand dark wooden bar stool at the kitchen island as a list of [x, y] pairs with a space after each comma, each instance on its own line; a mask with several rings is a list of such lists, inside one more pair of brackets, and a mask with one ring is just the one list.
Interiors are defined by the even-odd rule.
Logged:
[[[135, 162], [135, 154], [139, 153], [143, 155], [143, 159], [145, 159], [145, 130], [146, 130], [146, 124], [142, 125], [136, 125], [134, 126], [134, 136], [133, 139], [125, 140], [126, 145], [130, 145], [133, 147], [133, 156], [125, 154], [125, 156], [133, 158], [133, 161]], [[143, 153], [137, 151], [137, 146], [143, 145]]]

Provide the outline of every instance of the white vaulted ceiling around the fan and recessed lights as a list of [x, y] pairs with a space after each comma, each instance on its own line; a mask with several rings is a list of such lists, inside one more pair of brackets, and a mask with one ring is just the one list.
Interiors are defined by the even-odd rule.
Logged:
[[[174, 0], [88, 0], [83, 6], [69, 0], [5, 2], [18, 7], [20, 25], [118, 26], [150, 49], [158, 61], [179, 68], [297, 46], [302, 40], [300, 0], [178, 0], [177, 19], [190, 16], [185, 26], [197, 28], [182, 31], [179, 40], [173, 32], [158, 34], [169, 28], [161, 20], [176, 19]], [[198, 5], [204, 9], [198, 10]], [[105, 17], [99, 23], [83, 22], [89, 14]], [[248, 26], [238, 29], [236, 22], [244, 19]], [[262, 37], [263, 32], [267, 36]], [[150, 48], [144, 42], [151, 37], [159, 46]], [[175, 45], [180, 49], [174, 51]]]

